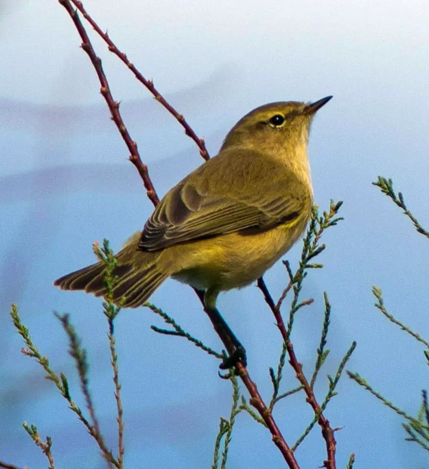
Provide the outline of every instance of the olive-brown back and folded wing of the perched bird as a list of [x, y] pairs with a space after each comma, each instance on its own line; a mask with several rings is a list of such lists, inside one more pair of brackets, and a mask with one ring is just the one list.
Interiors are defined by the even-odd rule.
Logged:
[[154, 251], [251, 227], [266, 230], [299, 216], [309, 199], [306, 185], [282, 162], [257, 151], [223, 150], [167, 192], [138, 248]]

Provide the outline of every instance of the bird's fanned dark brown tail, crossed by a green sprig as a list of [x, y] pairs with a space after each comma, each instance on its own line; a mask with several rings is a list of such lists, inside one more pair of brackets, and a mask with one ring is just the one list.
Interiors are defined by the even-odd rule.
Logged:
[[[131, 246], [116, 254], [118, 264], [113, 274], [119, 281], [112, 291], [115, 303], [125, 296], [124, 307], [136, 308], [148, 300], [169, 276], [157, 265], [159, 255], [159, 252], [134, 251]], [[61, 290], [84, 290], [95, 296], [104, 296], [107, 293], [105, 275], [105, 265], [99, 262], [57, 279], [54, 285]]]

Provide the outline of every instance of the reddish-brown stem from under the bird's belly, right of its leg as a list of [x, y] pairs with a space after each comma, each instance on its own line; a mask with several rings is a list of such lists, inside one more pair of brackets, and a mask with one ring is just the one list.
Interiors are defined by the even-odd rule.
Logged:
[[280, 313], [280, 309], [277, 308], [276, 304], [274, 303], [274, 300], [272, 299], [272, 296], [270, 292], [268, 291], [268, 288], [265, 285], [263, 278], [258, 279], [258, 288], [260, 288], [260, 290], [262, 291], [265, 301], [267, 302], [268, 306], [273, 312], [273, 315], [276, 320], [276, 325], [278, 329], [280, 330], [283, 340], [287, 344], [289, 363], [294, 369], [296, 377], [304, 389], [304, 392], [307, 396], [306, 400], [311, 405], [314, 411], [314, 414], [319, 415], [319, 419], [317, 422], [322, 429], [322, 437], [326, 442], [326, 453], [327, 453], [327, 459], [323, 461], [323, 466], [326, 469], [336, 469], [335, 452], [336, 452], [337, 442], [335, 440], [334, 430], [330, 427], [329, 421], [325, 418], [325, 416], [320, 411], [320, 405], [318, 404], [316, 397], [314, 395], [313, 389], [311, 388], [310, 384], [307, 381], [307, 378], [305, 377], [302, 371], [302, 363], [298, 361], [298, 358], [295, 354], [294, 346], [292, 342], [290, 341], [287, 330], [284, 326], [284, 322]]

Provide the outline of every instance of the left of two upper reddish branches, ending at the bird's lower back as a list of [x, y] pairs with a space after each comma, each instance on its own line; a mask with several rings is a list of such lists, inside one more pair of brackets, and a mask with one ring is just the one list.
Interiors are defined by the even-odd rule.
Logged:
[[101, 59], [95, 53], [94, 48], [92, 47], [92, 44], [86, 33], [86, 30], [83, 27], [82, 22], [80, 21], [79, 15], [77, 14], [76, 10], [71, 6], [69, 0], [59, 0], [59, 2], [67, 10], [67, 13], [73, 20], [73, 23], [76, 26], [76, 29], [82, 39], [82, 49], [88, 55], [94, 69], [97, 72], [101, 84], [100, 92], [107, 102], [107, 106], [109, 107], [109, 110], [112, 114], [113, 122], [116, 124], [116, 127], [118, 128], [122, 138], [124, 139], [125, 144], [128, 147], [128, 150], [131, 153], [129, 160], [137, 168], [137, 171], [140, 174], [140, 177], [143, 180], [143, 183], [147, 190], [147, 195], [149, 199], [154, 205], [157, 205], [157, 203], [159, 202], [159, 198], [152, 184], [151, 178], [149, 177], [148, 167], [144, 163], [142, 163], [137, 150], [137, 144], [135, 141], [132, 140], [127, 128], [125, 127], [121, 114], [119, 113], [119, 102], [113, 99], [109, 87], [109, 82], [102, 67]]

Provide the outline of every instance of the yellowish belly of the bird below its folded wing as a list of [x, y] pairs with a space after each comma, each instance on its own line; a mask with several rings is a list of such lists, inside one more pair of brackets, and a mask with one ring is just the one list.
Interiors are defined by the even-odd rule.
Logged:
[[[307, 220], [264, 232], [230, 233], [185, 244], [181, 269], [172, 277], [195, 288], [230, 290], [249, 285], [269, 269], [297, 241]], [[177, 248], [177, 246], [176, 246]], [[177, 259], [179, 260], [179, 259]]]

